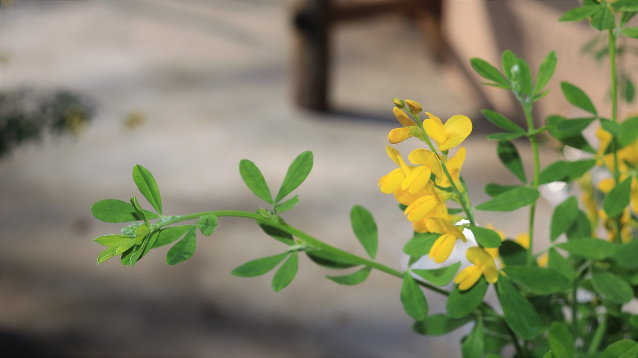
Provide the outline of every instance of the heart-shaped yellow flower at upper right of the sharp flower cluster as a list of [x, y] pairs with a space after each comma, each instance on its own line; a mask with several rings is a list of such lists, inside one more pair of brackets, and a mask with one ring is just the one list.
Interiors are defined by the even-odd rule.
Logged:
[[436, 142], [440, 151], [447, 151], [461, 144], [472, 131], [470, 118], [463, 116], [463, 114], [450, 117], [445, 125], [441, 123], [439, 117], [435, 117], [429, 112], [426, 114], [429, 118], [423, 121], [423, 128], [426, 130], [426, 134]]

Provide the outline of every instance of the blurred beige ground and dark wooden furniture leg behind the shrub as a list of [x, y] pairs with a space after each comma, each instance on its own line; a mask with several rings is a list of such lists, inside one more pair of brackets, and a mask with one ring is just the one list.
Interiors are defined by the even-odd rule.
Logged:
[[[378, 260], [402, 269], [412, 227], [376, 188], [394, 168], [385, 154], [397, 126], [391, 99], [422, 103], [442, 119], [466, 114], [473, 134], [463, 175], [473, 203], [487, 183], [516, 183], [496, 159], [493, 108], [523, 123], [505, 91], [480, 87], [470, 57], [491, 63], [505, 48], [535, 73], [558, 54], [550, 96], [535, 120], [578, 116], [559, 80], [583, 88], [604, 112], [604, 56], [583, 52], [587, 24], [558, 23], [578, 1], [16, 0], [0, 3], [0, 339], [3, 356], [456, 357], [461, 327], [444, 339], [412, 332], [401, 281], [373, 272], [343, 287], [300, 260], [275, 294], [272, 272], [230, 271], [284, 248], [254, 223], [223, 218], [175, 267], [168, 248], [134, 269], [109, 260], [93, 238], [121, 226], [95, 220], [103, 198], [138, 195], [135, 164], [151, 170], [165, 214], [254, 211], [247, 158], [271, 188], [290, 162], [313, 151], [315, 167], [285, 214], [292, 225], [364, 255], [350, 229], [353, 205], [380, 232]], [[595, 43], [591, 48], [596, 48]], [[633, 56], [633, 57], [632, 57]], [[625, 64], [635, 76], [635, 53]], [[632, 67], [633, 66], [633, 67]], [[635, 77], [634, 77], [635, 78]], [[633, 104], [622, 110], [636, 110]], [[526, 142], [516, 142], [531, 173]], [[418, 144], [397, 145], [404, 154]], [[545, 142], [542, 165], [561, 158]], [[574, 158], [572, 156], [572, 158]], [[575, 157], [577, 158], [577, 157]], [[542, 188], [537, 241], [553, 206], [573, 188]], [[144, 204], [143, 204], [144, 205]], [[526, 210], [478, 213], [508, 237]], [[460, 249], [460, 248], [459, 248]], [[463, 258], [463, 250], [450, 260]], [[445, 301], [426, 292], [430, 313]], [[493, 299], [493, 292], [489, 292]]]

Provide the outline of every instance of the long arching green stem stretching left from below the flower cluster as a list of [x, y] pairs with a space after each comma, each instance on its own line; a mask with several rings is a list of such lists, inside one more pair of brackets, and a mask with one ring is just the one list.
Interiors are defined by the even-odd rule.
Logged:
[[[279, 230], [283, 230], [284, 232], [287, 232], [290, 235], [296, 236], [299, 239], [301, 239], [301, 241], [304, 241], [306, 244], [308, 244], [312, 248], [320, 249], [320, 250], [332, 253], [333, 255], [337, 255], [339, 257], [345, 258], [346, 260], [350, 262], [355, 262], [360, 265], [366, 265], [368, 267], [372, 267], [373, 269], [377, 269], [379, 271], [385, 272], [392, 276], [403, 278], [403, 272], [396, 271], [395, 269], [392, 269], [386, 265], [380, 264], [376, 261], [368, 260], [367, 258], [359, 257], [347, 251], [343, 251], [338, 248], [335, 248], [334, 246], [330, 246], [329, 244], [326, 244], [325, 242], [320, 241], [319, 239], [316, 239], [315, 237], [312, 237], [311, 235], [306, 234], [305, 232], [302, 232], [298, 228], [295, 228], [286, 223], [283, 223], [282, 221], [277, 220], [276, 218], [266, 218], [260, 214], [249, 213], [248, 211], [239, 211], [239, 210], [205, 211], [203, 213], [182, 215], [169, 220], [159, 221], [159, 223], [156, 224], [157, 225], [156, 227], [157, 228], [166, 227], [168, 225], [179, 223], [181, 221], [193, 220], [206, 215], [214, 215], [218, 217], [234, 216], [239, 218], [253, 219], [255, 221], [259, 221], [267, 225], [270, 225], [272, 227], [276, 227]], [[446, 296], [450, 295], [450, 292], [443, 290], [442, 288], [438, 288], [433, 285], [430, 285], [429, 283], [419, 281], [419, 280], [417, 280], [417, 283], [419, 283], [419, 285], [421, 285], [422, 287], [428, 288], [429, 290], [437, 292], [441, 295], [446, 295]]]

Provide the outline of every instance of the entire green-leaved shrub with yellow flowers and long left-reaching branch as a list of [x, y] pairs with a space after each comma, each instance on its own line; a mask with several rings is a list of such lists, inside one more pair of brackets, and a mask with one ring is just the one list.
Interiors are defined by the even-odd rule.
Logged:
[[[612, 101], [609, 118], [598, 113], [579, 87], [562, 82], [565, 98], [590, 116], [574, 119], [549, 116], [544, 126], [535, 127], [533, 105], [549, 93], [545, 86], [556, 66], [554, 52], [545, 57], [536, 77], [526, 61], [509, 50], [503, 52], [502, 72], [482, 59], [471, 59], [471, 66], [488, 80], [487, 85], [516, 96], [527, 123], [527, 128], [523, 128], [498, 112], [483, 110], [491, 123], [504, 130], [488, 138], [498, 140], [498, 158], [521, 184], [488, 184], [486, 193], [491, 199], [479, 205], [471, 204], [461, 175], [466, 150], [460, 145], [472, 131], [470, 118], [459, 114], [443, 121], [423, 112], [416, 101], [392, 100], [392, 110], [401, 127], [390, 131], [390, 144], [416, 138], [424, 146], [414, 149], [406, 160], [397, 149], [387, 145], [387, 154], [397, 168], [383, 175], [378, 183], [382, 193], [394, 195], [413, 227], [414, 234], [403, 248], [410, 256], [405, 271], [375, 260], [376, 223], [372, 214], [360, 205], [352, 208], [350, 218], [355, 236], [369, 257], [330, 246], [281, 218], [281, 214], [299, 202], [297, 195], [288, 197], [311, 171], [310, 152], [295, 158], [274, 197], [256, 165], [249, 160], [240, 162], [242, 179], [268, 205], [255, 213], [222, 210], [165, 216], [154, 177], [136, 165], [133, 181], [154, 211], [142, 209], [135, 197], [130, 202], [107, 199], [94, 204], [91, 211], [100, 220], [131, 222], [121, 234], [95, 239], [107, 246], [98, 256], [98, 264], [119, 256], [122, 264], [133, 266], [151, 249], [175, 241], [166, 262], [179, 264], [193, 255], [197, 231], [209, 236], [216, 229], [218, 218], [239, 216], [255, 220], [265, 234], [285, 244], [286, 249], [278, 255], [239, 265], [232, 274], [255, 277], [279, 265], [272, 278], [276, 292], [293, 280], [302, 253], [330, 269], [356, 268], [348, 274], [327, 276], [342, 285], [361, 283], [372, 269], [401, 278], [400, 299], [407, 315], [415, 320], [415, 332], [445, 334], [473, 322], [470, 333], [461, 342], [463, 357], [500, 357], [508, 345], [514, 347], [516, 357], [636, 357], [638, 315], [628, 311], [627, 304], [635, 300], [638, 292], [638, 116], [624, 121], [618, 118], [615, 61], [616, 39], [638, 38], [638, 27], [627, 27], [637, 11], [636, 1], [590, 0], [561, 18], [590, 19], [594, 29], [608, 33]], [[599, 126], [597, 148], [582, 135], [590, 125]], [[589, 158], [560, 160], [541, 168], [538, 137], [547, 133], [563, 145], [589, 153]], [[527, 138], [531, 143], [534, 170], [530, 178], [512, 142], [517, 138]], [[595, 183], [590, 172], [597, 168], [604, 168], [609, 175]], [[534, 252], [538, 187], [556, 181], [579, 181], [584, 209], [579, 208], [575, 196], [558, 204], [549, 223], [551, 242], [544, 250]], [[529, 230], [515, 239], [507, 239], [492, 225], [479, 225], [474, 217], [477, 210], [514, 211], [528, 206]], [[186, 221], [191, 223], [184, 224]], [[459, 240], [474, 245], [466, 250], [470, 266], [461, 271], [461, 262], [438, 269], [414, 267], [422, 259], [438, 264], [447, 262]], [[452, 289], [445, 289], [452, 282]], [[484, 302], [489, 285], [494, 285], [500, 310]], [[422, 289], [446, 295], [447, 313], [428, 315]]]

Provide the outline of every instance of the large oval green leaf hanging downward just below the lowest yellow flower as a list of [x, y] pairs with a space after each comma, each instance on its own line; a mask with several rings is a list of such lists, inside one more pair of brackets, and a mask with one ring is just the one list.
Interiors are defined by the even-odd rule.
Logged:
[[497, 283], [505, 323], [520, 338], [534, 339], [540, 329], [540, 317], [534, 306], [521, 295], [507, 276], [500, 276]]

